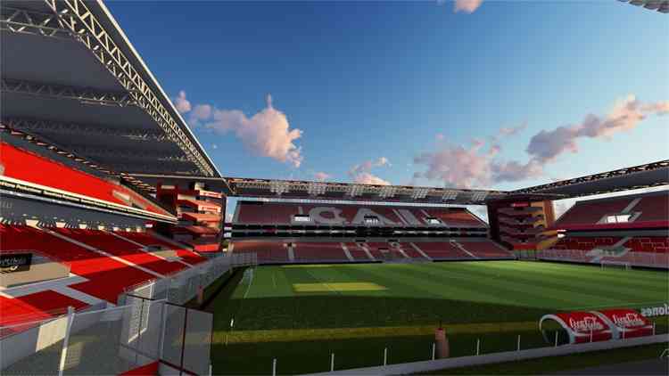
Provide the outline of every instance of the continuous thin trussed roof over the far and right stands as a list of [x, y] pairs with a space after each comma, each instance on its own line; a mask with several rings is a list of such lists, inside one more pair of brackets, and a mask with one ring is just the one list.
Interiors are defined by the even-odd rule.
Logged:
[[[576, 177], [516, 191], [308, 182], [244, 177], [196, 177], [134, 174], [138, 187], [202, 182], [232, 197], [285, 200], [351, 200], [425, 204], [483, 205], [491, 200], [560, 200], [669, 184], [669, 159], [630, 168]], [[668, 185], [669, 186], [669, 185]]]

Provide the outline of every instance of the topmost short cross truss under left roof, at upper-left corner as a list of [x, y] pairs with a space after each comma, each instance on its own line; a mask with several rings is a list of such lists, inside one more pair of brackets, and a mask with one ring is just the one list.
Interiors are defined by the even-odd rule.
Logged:
[[61, 20], [55, 14], [16, 9], [10, 6], [0, 7], [0, 30], [43, 37], [74, 39], [71, 31], [62, 26]]

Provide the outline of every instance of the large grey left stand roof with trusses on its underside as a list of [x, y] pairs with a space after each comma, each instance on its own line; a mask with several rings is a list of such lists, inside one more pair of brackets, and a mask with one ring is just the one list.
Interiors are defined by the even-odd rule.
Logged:
[[124, 173], [220, 176], [101, 1], [4, 0], [2, 124]]

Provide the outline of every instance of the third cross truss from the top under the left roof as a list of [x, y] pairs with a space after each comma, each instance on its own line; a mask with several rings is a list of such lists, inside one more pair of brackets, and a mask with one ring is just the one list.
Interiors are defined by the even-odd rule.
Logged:
[[151, 141], [154, 143], [171, 142], [162, 132], [151, 132], [142, 129], [126, 129], [118, 127], [89, 126], [85, 124], [62, 123], [44, 119], [3, 119], [7, 127], [27, 132], [47, 135], [94, 135], [100, 137], [124, 137], [134, 141]]

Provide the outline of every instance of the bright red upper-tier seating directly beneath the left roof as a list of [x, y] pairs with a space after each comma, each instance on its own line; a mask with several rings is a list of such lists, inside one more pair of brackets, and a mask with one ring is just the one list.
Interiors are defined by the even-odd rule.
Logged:
[[[98, 200], [125, 206], [136, 206], [154, 213], [169, 214], [164, 209], [153, 205], [149, 200], [120, 184], [113, 184], [100, 177], [70, 168], [60, 162], [16, 148], [9, 143], [0, 143], [0, 163], [4, 166], [4, 176], [82, 194]], [[30, 168], [26, 168], [26, 166]], [[123, 198], [127, 200], [123, 200]]]

